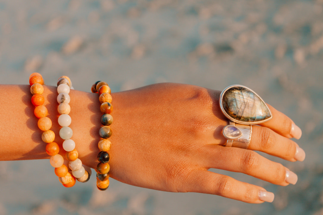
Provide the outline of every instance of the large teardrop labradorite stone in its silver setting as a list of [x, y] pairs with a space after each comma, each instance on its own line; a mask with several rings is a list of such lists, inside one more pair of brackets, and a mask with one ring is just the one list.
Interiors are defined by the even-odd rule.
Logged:
[[234, 86], [226, 90], [222, 98], [222, 106], [230, 117], [241, 123], [261, 123], [271, 118], [271, 113], [262, 99], [242, 86]]

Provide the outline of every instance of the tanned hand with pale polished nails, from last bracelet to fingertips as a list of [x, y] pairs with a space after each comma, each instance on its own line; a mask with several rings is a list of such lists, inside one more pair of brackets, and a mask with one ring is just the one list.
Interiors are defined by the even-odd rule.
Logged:
[[228, 120], [219, 107], [220, 93], [173, 83], [114, 93], [110, 176], [155, 190], [209, 193], [249, 203], [272, 201], [273, 194], [208, 170], [242, 172], [282, 186], [295, 184], [295, 173], [254, 150], [302, 161], [305, 152], [289, 139], [300, 138], [300, 129], [268, 105], [273, 118], [253, 126], [248, 149], [221, 146]]

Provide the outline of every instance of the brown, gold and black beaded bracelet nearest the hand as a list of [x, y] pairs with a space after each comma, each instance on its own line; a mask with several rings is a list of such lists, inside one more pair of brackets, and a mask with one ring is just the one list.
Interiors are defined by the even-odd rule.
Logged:
[[101, 191], [105, 191], [109, 187], [109, 170], [110, 166], [108, 161], [110, 159], [108, 151], [111, 147], [111, 142], [108, 138], [112, 135], [112, 130], [109, 125], [112, 124], [113, 118], [110, 115], [112, 112], [112, 97], [111, 89], [106, 82], [97, 81], [91, 87], [92, 93], [99, 93], [99, 101], [101, 103], [100, 111], [103, 113], [101, 116], [102, 127], [99, 130], [99, 135], [102, 138], [99, 143], [98, 165], [97, 171], [97, 188]]

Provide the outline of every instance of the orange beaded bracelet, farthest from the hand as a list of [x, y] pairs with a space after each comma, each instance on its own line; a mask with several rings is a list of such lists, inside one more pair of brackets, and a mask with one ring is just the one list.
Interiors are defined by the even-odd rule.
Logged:
[[[44, 92], [43, 84], [44, 84], [44, 79], [41, 74], [39, 73], [32, 73], [29, 76], [29, 84], [30, 84], [30, 93], [33, 95], [31, 97], [31, 103], [35, 106], [34, 109], [34, 115], [38, 118], [38, 128], [43, 131], [42, 133], [42, 141], [47, 143], [46, 145], [46, 153], [50, 155], [50, 164], [55, 167], [55, 174], [57, 175], [57, 168], [60, 168], [60, 175], [61, 176], [66, 176], [66, 181], [65, 183], [66, 186], [70, 186], [71, 177], [70, 175], [68, 176], [68, 169], [67, 167], [63, 164], [64, 159], [63, 157], [58, 154], [59, 152], [59, 146], [55, 140], [55, 133], [51, 130], [49, 130], [52, 127], [52, 121], [47, 117], [48, 111], [44, 104], [44, 96], [42, 95]], [[64, 167], [65, 166], [65, 167]], [[64, 173], [64, 174], [63, 174]], [[58, 175], [57, 175], [58, 176]], [[60, 177], [60, 176], [59, 176]], [[75, 183], [75, 182], [74, 182]], [[64, 185], [64, 184], [63, 184]], [[64, 186], [65, 186], [64, 185]]]

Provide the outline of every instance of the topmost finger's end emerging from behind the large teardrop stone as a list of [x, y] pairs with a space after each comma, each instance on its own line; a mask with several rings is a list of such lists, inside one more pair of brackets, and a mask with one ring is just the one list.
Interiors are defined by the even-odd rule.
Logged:
[[277, 111], [271, 105], [267, 104], [273, 118], [260, 125], [270, 128], [271, 130], [287, 138], [299, 139], [302, 136], [302, 130], [284, 113]]

